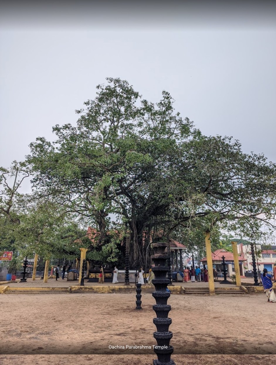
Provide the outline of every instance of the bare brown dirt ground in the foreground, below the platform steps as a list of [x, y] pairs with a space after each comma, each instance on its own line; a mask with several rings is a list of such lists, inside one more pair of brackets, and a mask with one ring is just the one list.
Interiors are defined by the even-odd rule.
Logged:
[[[109, 349], [156, 345], [151, 294], [142, 295], [142, 311], [135, 311], [133, 294], [2, 294], [0, 300], [0, 364], [67, 365], [76, 354], [89, 365], [156, 358], [152, 349]], [[172, 295], [168, 304], [176, 364], [241, 364], [242, 354], [243, 365], [275, 363], [276, 304], [265, 294]]]

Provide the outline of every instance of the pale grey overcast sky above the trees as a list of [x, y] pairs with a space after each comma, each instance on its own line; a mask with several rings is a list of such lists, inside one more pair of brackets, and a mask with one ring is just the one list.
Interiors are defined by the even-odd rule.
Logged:
[[0, 8], [0, 166], [23, 160], [38, 136], [53, 141], [55, 124], [75, 124], [74, 110], [106, 77], [128, 80], [154, 102], [165, 89], [204, 134], [233, 136], [245, 152], [276, 162], [276, 23], [268, 5], [47, 9]]

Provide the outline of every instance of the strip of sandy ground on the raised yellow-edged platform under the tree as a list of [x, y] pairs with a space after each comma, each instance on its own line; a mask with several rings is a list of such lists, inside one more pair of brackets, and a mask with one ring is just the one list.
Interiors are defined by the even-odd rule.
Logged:
[[[231, 280], [230, 280], [231, 281]], [[242, 278], [242, 283], [245, 284], [253, 284], [254, 283], [254, 278]], [[204, 282], [200, 282], [198, 283], [197, 281], [192, 283], [191, 281], [188, 281], [187, 283], [173, 283], [174, 285], [181, 285], [183, 287], [187, 287], [187, 288], [191, 288], [191, 287], [206, 287], [208, 288], [208, 283], [204, 283]], [[1, 282], [0, 282], [1, 285]], [[70, 287], [71, 285], [78, 285], [78, 280], [74, 280], [74, 281], [67, 281], [66, 279], [62, 280], [62, 279], [58, 279], [55, 280], [55, 278], [53, 279], [48, 279], [47, 283], [43, 283], [43, 280], [41, 280], [40, 277], [37, 277], [34, 281], [32, 281], [31, 278], [28, 278], [26, 283], [20, 283], [20, 279], [16, 280], [16, 283], [9, 283], [9, 284], [2, 284], [2, 285], [9, 285], [11, 288], [12, 287], [45, 287], [45, 288], [52, 288], [52, 287]], [[88, 283], [87, 280], [84, 280], [84, 285], [85, 286], [95, 286], [95, 285], [124, 285], [124, 283], [118, 283], [118, 284], [112, 284], [112, 283], [104, 283], [104, 284], [99, 284], [99, 283]], [[134, 285], [134, 283], [131, 283], [131, 285]], [[147, 284], [146, 284], [147, 285]], [[232, 285], [223, 285], [220, 284], [218, 281], [215, 281], [215, 287], [223, 287], [223, 286], [232, 286]], [[234, 286], [234, 285], [233, 285]]]

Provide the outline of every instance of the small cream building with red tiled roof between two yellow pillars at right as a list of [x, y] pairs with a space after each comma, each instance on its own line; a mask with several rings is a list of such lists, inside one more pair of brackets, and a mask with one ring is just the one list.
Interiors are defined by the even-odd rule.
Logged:
[[[222, 265], [222, 257], [224, 256], [226, 268], [227, 268], [227, 276], [231, 276], [235, 273], [234, 269], [234, 255], [232, 252], [226, 251], [225, 249], [219, 249], [214, 252], [212, 252], [212, 264], [213, 268], [217, 271], [218, 276], [223, 276], [223, 265]], [[244, 275], [244, 261], [246, 261], [245, 258], [239, 256], [239, 273], [241, 276]], [[200, 260], [203, 265], [207, 265], [207, 258], [204, 257], [202, 260]]]

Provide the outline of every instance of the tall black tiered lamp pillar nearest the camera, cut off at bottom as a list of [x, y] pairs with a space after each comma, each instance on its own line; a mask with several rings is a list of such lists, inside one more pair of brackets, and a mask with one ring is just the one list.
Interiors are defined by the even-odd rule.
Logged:
[[158, 358], [158, 360], [153, 361], [153, 365], [175, 365], [175, 362], [170, 359], [173, 353], [173, 347], [170, 346], [170, 339], [173, 337], [173, 334], [169, 331], [172, 319], [168, 318], [171, 306], [167, 304], [167, 300], [170, 297], [170, 293], [166, 291], [169, 284], [169, 279], [166, 279], [166, 273], [169, 267], [165, 266], [166, 260], [168, 259], [168, 255], [165, 254], [167, 244], [153, 243], [152, 247], [154, 250], [154, 255], [152, 255], [154, 267], [152, 271], [155, 275], [155, 279], [152, 281], [155, 292], [152, 295], [156, 300], [156, 304], [153, 305], [153, 310], [156, 312], [156, 318], [153, 319], [153, 323], [157, 328], [157, 331], [153, 333], [153, 337], [157, 341], [154, 352]]

